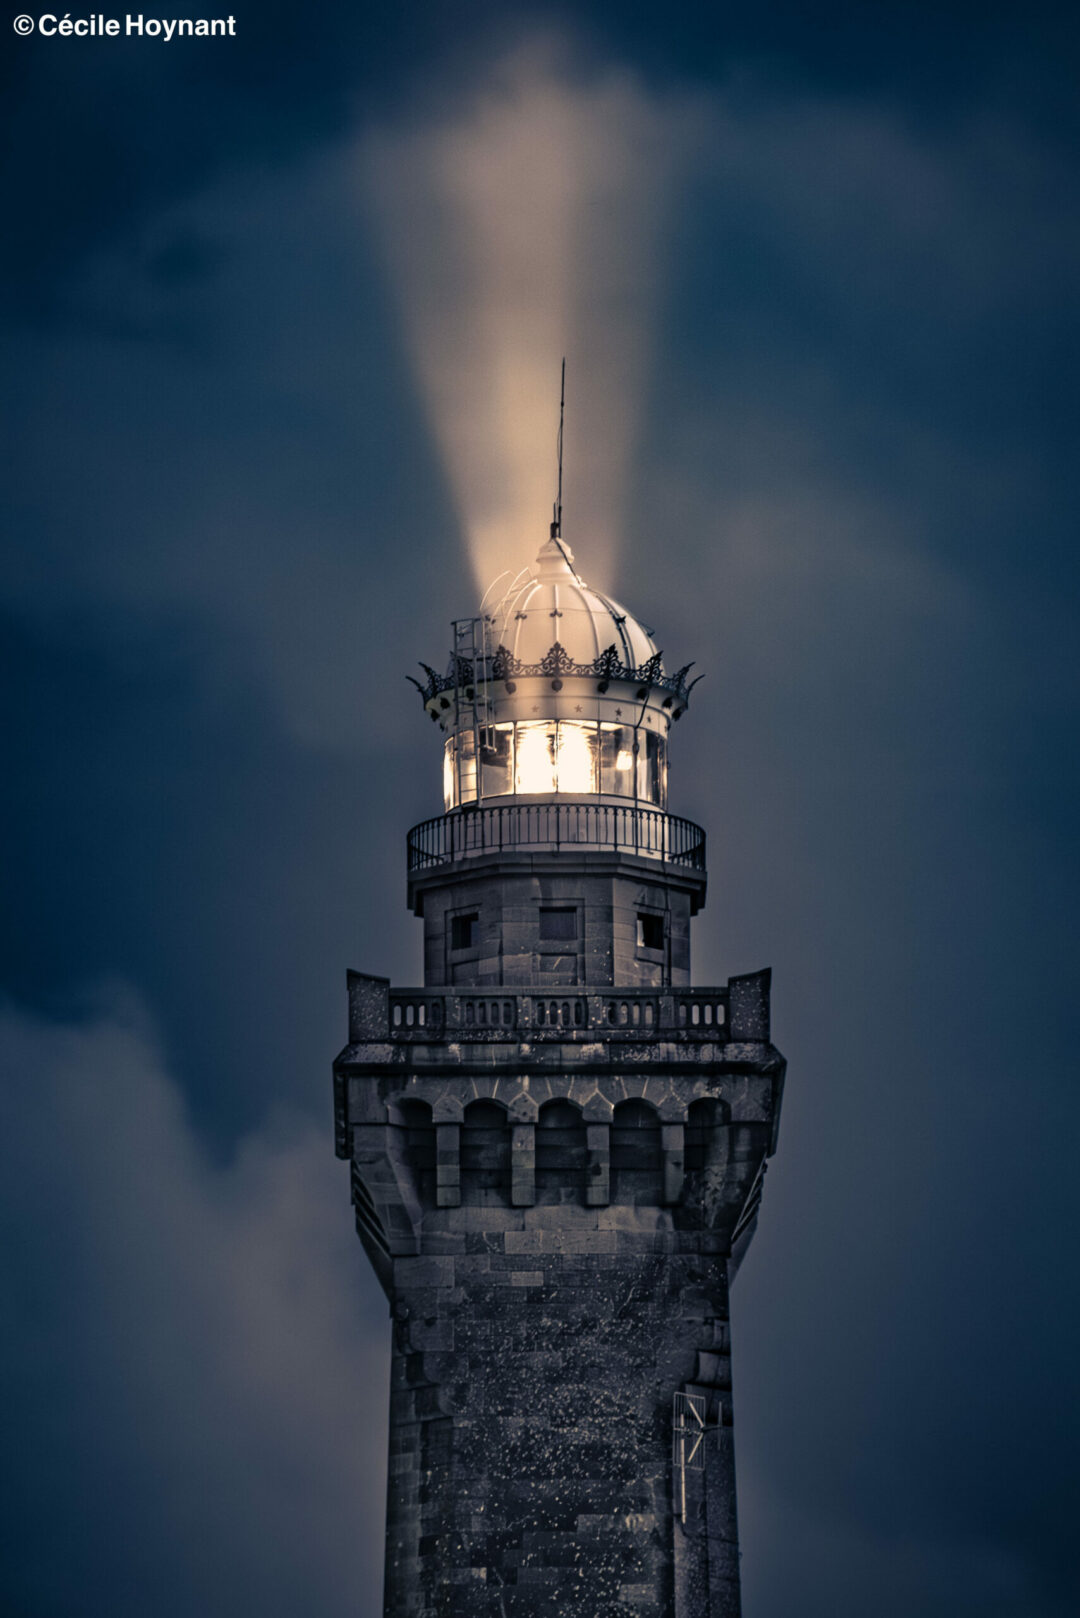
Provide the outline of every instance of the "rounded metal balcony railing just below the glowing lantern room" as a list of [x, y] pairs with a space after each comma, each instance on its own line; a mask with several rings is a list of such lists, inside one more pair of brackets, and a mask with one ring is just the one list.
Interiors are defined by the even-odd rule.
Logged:
[[408, 833], [410, 875], [515, 849], [610, 849], [704, 870], [704, 832], [693, 820], [635, 804], [497, 804], [453, 809]]

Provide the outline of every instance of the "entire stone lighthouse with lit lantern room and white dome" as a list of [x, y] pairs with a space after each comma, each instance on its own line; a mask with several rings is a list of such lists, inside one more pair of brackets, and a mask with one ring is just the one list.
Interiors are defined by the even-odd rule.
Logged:
[[559, 527], [419, 686], [424, 984], [348, 977], [337, 1150], [393, 1322], [384, 1615], [737, 1618], [729, 1290], [784, 1058], [767, 971], [691, 985], [688, 668]]

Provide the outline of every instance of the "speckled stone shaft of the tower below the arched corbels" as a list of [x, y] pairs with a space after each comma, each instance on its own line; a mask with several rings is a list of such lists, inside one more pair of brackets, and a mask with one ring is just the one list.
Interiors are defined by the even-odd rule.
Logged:
[[[393, 1262], [387, 1618], [733, 1618], [725, 1239], [659, 1209], [460, 1207], [423, 1246]], [[685, 1388], [722, 1430], [683, 1526]]]

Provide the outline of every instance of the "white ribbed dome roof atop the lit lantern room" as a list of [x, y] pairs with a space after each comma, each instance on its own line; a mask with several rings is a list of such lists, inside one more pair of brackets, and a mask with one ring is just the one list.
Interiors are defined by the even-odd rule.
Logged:
[[562, 539], [541, 547], [534, 574], [513, 587], [491, 618], [492, 649], [505, 646], [520, 663], [539, 663], [555, 641], [572, 662], [583, 665], [591, 665], [609, 646], [628, 668], [640, 668], [656, 655], [644, 626], [578, 576], [573, 552]]

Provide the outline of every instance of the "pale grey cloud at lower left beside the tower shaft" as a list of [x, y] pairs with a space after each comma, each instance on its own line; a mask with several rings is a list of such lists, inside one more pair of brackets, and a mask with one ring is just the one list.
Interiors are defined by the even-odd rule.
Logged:
[[0, 1019], [5, 1607], [377, 1610], [385, 1302], [327, 1128], [207, 1158], [138, 1010]]

